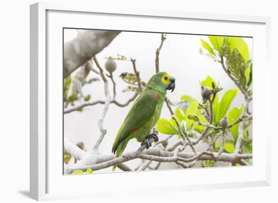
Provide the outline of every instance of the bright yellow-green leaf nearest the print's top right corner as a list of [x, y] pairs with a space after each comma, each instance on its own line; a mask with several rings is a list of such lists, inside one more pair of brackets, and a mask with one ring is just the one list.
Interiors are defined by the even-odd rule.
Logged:
[[241, 37], [230, 36], [227, 37], [229, 42], [230, 51], [233, 52], [234, 49], [237, 49], [245, 62], [249, 60], [249, 49], [244, 39]]

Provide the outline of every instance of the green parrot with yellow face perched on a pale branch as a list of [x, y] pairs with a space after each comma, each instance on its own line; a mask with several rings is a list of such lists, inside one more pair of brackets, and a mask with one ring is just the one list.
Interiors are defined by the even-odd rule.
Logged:
[[[128, 111], [115, 138], [112, 153], [116, 158], [121, 156], [132, 138], [146, 144], [147, 148], [151, 146], [150, 138], [158, 141], [157, 135], [150, 133], [160, 117], [166, 91], [173, 92], [174, 89], [175, 78], [167, 72], [158, 72], [150, 78], [146, 88]], [[115, 171], [115, 168], [116, 165], [113, 166], [112, 171]]]

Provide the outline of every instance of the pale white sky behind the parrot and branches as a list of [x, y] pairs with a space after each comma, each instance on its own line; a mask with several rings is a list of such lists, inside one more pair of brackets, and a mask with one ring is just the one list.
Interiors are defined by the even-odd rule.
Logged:
[[[76, 37], [75, 29], [64, 29], [64, 40]], [[160, 71], [171, 73], [176, 78], [176, 88], [173, 93], [168, 91], [167, 97], [173, 101], [179, 101], [182, 95], [190, 95], [202, 101], [200, 94], [199, 81], [204, 80], [210, 75], [216, 82], [219, 82], [223, 90], [219, 93], [219, 98], [229, 89], [236, 89], [236, 85], [222, 70], [221, 65], [214, 62], [205, 55], [200, 55], [199, 49], [202, 48], [200, 38], [209, 42], [207, 36], [187, 35], [187, 34], [167, 34], [166, 40], [160, 52]], [[244, 38], [249, 48], [249, 57], [252, 58], [252, 38]], [[104, 68], [106, 62], [105, 57], [116, 57], [117, 54], [124, 55], [127, 58], [136, 59], [137, 70], [140, 71], [141, 78], [144, 82], [155, 73], [155, 52], [161, 42], [160, 33], [142, 33], [142, 32], [121, 32], [112, 43], [97, 55], [100, 65]], [[203, 49], [206, 53], [206, 50]], [[125, 103], [133, 96], [133, 92], [122, 93], [127, 84], [118, 77], [122, 72], [133, 72], [130, 61], [116, 61], [117, 69], [114, 74], [116, 82], [117, 96], [116, 100]], [[95, 65], [95, 64], [93, 64]], [[95, 73], [90, 72], [87, 79], [91, 77], [99, 77]], [[111, 82], [111, 80], [109, 80]], [[83, 87], [83, 94], [91, 95], [90, 101], [105, 100], [103, 82], [92, 83]], [[110, 83], [110, 94], [113, 95], [112, 83]], [[242, 94], [239, 92], [235, 97], [231, 108], [240, 107], [244, 102]], [[76, 102], [77, 104], [77, 102]], [[112, 144], [118, 129], [124, 120], [130, 106], [121, 108], [114, 104], [109, 106], [104, 127], [107, 129], [106, 137], [100, 145], [100, 152], [110, 154]], [[103, 105], [85, 107], [83, 112], [75, 111], [64, 115], [64, 136], [73, 142], [83, 142], [86, 149], [91, 149], [98, 139], [100, 132], [98, 129], [98, 120], [102, 114]], [[173, 108], [174, 110], [174, 108]], [[170, 118], [169, 110], [164, 104], [161, 116], [162, 118]], [[162, 138], [163, 134], [159, 134]], [[170, 143], [174, 142], [172, 139]], [[134, 151], [140, 146], [135, 139], [130, 140], [125, 152]], [[198, 145], [197, 151], [203, 150], [205, 145]], [[187, 148], [190, 151], [190, 148]], [[186, 151], [187, 151], [186, 150]], [[131, 168], [135, 168], [140, 160], [132, 160], [127, 164]], [[221, 163], [220, 163], [221, 164]], [[219, 166], [220, 166], [219, 164]], [[153, 164], [151, 166], [155, 166]], [[197, 165], [200, 166], [200, 165]], [[222, 166], [222, 165], [221, 165]], [[176, 168], [175, 164], [163, 163], [160, 169]], [[118, 169], [117, 169], [118, 170]], [[119, 170], [120, 171], [120, 170]], [[101, 172], [111, 172], [111, 168], [104, 169]]]

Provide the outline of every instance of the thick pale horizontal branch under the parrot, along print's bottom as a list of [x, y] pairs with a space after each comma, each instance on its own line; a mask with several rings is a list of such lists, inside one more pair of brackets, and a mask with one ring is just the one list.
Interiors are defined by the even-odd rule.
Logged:
[[[158, 133], [155, 129], [154, 133]], [[127, 171], [129, 170], [126, 166], [120, 165], [126, 161], [135, 158], [146, 159], [150, 161], [158, 161], [158, 162], [175, 162], [176, 164], [183, 165], [183, 167], [192, 167], [195, 165], [197, 160], [220, 160], [220, 161], [227, 161], [230, 163], [239, 163], [241, 159], [249, 159], [252, 158], [252, 154], [238, 154], [238, 153], [221, 153], [218, 156], [216, 152], [209, 152], [209, 148], [211, 145], [216, 141], [217, 135], [215, 135], [212, 142], [209, 144], [206, 150], [199, 152], [199, 153], [191, 153], [191, 152], [178, 152], [175, 150], [174, 152], [165, 151], [158, 144], [161, 144], [168, 140], [171, 136], [166, 137], [164, 140], [161, 140], [160, 143], [155, 143], [154, 147], [150, 149], [146, 149], [145, 145], [142, 145], [138, 150], [131, 153], [123, 154], [119, 158], [115, 158], [113, 154], [111, 155], [102, 155], [97, 150], [93, 150], [92, 152], [84, 152], [76, 145], [71, 143], [69, 140], [65, 140], [64, 147], [66, 151], [75, 154], [74, 156], [80, 159], [79, 162], [74, 164], [70, 167], [64, 167], [64, 173], [70, 174], [75, 170], [87, 170], [87, 168], [91, 168], [92, 171], [97, 171], [101, 169], [105, 169], [111, 167], [113, 165], [119, 165], [120, 169]], [[154, 139], [150, 139], [152, 143]], [[155, 146], [156, 145], [156, 146]], [[75, 151], [78, 151], [77, 153]], [[179, 161], [179, 162], [178, 162]], [[184, 164], [193, 161], [190, 164]], [[243, 161], [242, 161], [243, 162]], [[146, 166], [149, 165], [146, 163]], [[182, 164], [183, 163], [183, 164]], [[142, 166], [141, 169], [143, 170], [146, 166]]]

